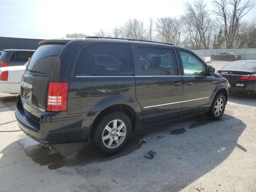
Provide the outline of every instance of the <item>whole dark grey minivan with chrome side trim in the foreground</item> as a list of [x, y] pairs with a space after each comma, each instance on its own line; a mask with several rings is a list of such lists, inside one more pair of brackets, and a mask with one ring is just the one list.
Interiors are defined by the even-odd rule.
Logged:
[[227, 100], [228, 81], [186, 48], [96, 37], [44, 40], [22, 77], [16, 118], [38, 142], [90, 138], [100, 154], [113, 154], [140, 126], [205, 112], [216, 120]]

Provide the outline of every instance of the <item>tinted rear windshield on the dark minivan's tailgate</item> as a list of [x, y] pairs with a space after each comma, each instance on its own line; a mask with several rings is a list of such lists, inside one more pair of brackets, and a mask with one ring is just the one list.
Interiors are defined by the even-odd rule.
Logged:
[[26, 73], [50, 77], [58, 56], [65, 45], [48, 44], [40, 46], [34, 52]]

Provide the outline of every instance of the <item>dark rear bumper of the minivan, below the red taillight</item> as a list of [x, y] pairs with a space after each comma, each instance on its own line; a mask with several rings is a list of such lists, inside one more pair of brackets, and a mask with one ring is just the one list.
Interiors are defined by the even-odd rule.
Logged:
[[20, 101], [20, 95], [17, 96], [17, 109], [15, 116], [20, 129], [32, 139], [43, 144], [62, 144], [71, 142], [84, 142], [88, 140], [90, 126], [83, 127], [83, 115], [63, 116], [63, 113], [46, 112], [42, 114], [40, 123], [30, 119], [24, 112]]

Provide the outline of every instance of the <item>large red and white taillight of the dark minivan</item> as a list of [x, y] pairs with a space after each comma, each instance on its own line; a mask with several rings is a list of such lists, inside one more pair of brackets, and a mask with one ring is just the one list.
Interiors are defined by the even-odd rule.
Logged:
[[68, 83], [50, 82], [47, 95], [47, 111], [66, 111], [68, 104]]

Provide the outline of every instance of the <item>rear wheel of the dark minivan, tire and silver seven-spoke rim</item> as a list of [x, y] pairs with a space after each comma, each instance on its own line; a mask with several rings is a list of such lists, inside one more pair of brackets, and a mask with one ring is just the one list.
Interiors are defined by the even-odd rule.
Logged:
[[[124, 126], [120, 130], [120, 126], [123, 124]], [[106, 115], [92, 130], [90, 141], [99, 154], [112, 155], [126, 146], [131, 134], [132, 122], [130, 118], [122, 112], [113, 112]]]

